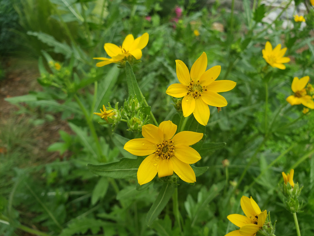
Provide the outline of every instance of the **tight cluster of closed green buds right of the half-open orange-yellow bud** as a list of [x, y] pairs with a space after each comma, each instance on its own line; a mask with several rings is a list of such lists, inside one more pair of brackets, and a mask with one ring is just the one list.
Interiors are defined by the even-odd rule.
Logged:
[[139, 102], [136, 95], [124, 101], [122, 116], [127, 120], [129, 131], [141, 132], [142, 126], [148, 121], [148, 114], [149, 111], [143, 106], [143, 101]]

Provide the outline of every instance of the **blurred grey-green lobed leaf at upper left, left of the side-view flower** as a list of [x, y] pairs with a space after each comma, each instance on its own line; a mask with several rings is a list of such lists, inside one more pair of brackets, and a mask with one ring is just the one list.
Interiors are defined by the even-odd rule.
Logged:
[[57, 41], [54, 37], [49, 34], [42, 32], [27, 31], [28, 35], [37, 37], [41, 42], [46, 43], [48, 46], [54, 48], [55, 53], [62, 53], [66, 58], [70, 58], [72, 55], [72, 49], [66, 43]]

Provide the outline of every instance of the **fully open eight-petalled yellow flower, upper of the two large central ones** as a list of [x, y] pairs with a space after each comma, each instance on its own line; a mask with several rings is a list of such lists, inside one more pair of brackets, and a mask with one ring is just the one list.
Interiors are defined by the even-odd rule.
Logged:
[[204, 126], [207, 125], [210, 114], [208, 105], [226, 106], [226, 99], [218, 93], [229, 91], [236, 86], [236, 82], [230, 80], [215, 81], [220, 74], [220, 65], [209, 70], [206, 68], [207, 56], [204, 52], [192, 65], [191, 73], [183, 61], [176, 60], [176, 74], [180, 84], [172, 84], [166, 91], [172, 97], [184, 97], [183, 116], [187, 117], [193, 113], [198, 123]]

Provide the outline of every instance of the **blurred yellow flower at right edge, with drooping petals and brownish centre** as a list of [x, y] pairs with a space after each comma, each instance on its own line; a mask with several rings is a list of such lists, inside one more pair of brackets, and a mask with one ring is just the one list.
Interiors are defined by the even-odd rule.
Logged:
[[294, 95], [290, 95], [286, 98], [287, 102], [291, 105], [299, 105], [303, 104], [304, 106], [314, 109], [314, 102], [310, 95], [306, 94], [305, 86], [307, 82], [310, 80], [309, 76], [304, 76], [302, 78], [294, 77], [291, 89], [295, 93]]

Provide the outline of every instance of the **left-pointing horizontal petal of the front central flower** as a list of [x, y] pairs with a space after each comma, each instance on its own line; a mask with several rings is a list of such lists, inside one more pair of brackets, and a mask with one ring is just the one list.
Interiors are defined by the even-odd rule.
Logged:
[[124, 144], [123, 149], [137, 156], [146, 156], [155, 152], [155, 144], [146, 138], [134, 138]]

